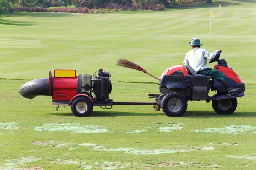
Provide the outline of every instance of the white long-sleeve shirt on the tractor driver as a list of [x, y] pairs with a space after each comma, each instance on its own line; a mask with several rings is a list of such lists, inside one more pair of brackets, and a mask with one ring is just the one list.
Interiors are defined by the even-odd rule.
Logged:
[[189, 66], [197, 73], [198, 71], [208, 68], [206, 66], [207, 59], [213, 59], [217, 52], [218, 50], [213, 53], [209, 53], [206, 49], [195, 47], [187, 52], [183, 62], [184, 64], [189, 64]]

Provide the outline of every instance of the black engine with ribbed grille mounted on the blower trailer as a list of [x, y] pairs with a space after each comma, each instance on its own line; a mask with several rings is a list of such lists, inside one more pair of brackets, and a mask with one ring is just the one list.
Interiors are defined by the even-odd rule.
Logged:
[[102, 69], [98, 70], [98, 75], [96, 72], [94, 78], [90, 74], [78, 75], [77, 94], [87, 94], [94, 100], [108, 100], [112, 91], [111, 75]]

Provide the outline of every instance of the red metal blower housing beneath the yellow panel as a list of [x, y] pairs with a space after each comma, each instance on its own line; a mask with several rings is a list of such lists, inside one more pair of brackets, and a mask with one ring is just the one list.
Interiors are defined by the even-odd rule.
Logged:
[[67, 78], [52, 78], [52, 99], [71, 100], [77, 94], [77, 76]]

